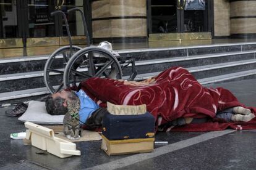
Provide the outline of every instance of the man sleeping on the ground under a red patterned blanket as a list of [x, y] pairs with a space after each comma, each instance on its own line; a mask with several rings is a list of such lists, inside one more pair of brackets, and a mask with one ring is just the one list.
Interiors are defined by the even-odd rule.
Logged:
[[[169, 68], [140, 82], [90, 78], [79, 87], [76, 94], [81, 103], [80, 123], [89, 129], [100, 127], [107, 101], [117, 105], [145, 103], [147, 110], [155, 116], [156, 126], [203, 123], [211, 118], [247, 122], [255, 117], [255, 108], [244, 108], [227, 89], [202, 87], [181, 67]], [[48, 113], [65, 114], [69, 94], [70, 91], [64, 90], [49, 96], [46, 99]]]

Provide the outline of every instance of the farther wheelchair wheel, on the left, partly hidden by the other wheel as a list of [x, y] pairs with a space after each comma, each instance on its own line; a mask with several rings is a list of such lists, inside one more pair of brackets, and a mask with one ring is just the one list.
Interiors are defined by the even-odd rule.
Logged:
[[[82, 48], [72, 46], [72, 54], [80, 49]], [[72, 54], [70, 54], [70, 46], [64, 46], [54, 51], [46, 61], [44, 68], [44, 81], [51, 94], [63, 89], [64, 69]]]

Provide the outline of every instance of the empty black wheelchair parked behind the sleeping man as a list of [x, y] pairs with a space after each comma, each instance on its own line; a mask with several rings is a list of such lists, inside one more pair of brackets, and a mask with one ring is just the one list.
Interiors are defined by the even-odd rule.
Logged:
[[57, 10], [51, 15], [62, 15], [64, 19], [69, 46], [64, 46], [50, 55], [45, 63], [44, 82], [48, 91], [53, 94], [69, 87], [76, 87], [81, 81], [88, 78], [101, 77], [122, 79], [122, 69], [131, 66], [132, 74], [128, 80], [133, 80], [137, 75], [135, 59], [126, 59], [113, 51], [109, 42], [103, 41], [99, 46], [90, 42], [87, 23], [83, 11], [79, 8], [67, 10], [67, 13], [79, 12], [82, 16], [87, 47], [81, 48], [72, 45], [69, 25], [64, 12]]

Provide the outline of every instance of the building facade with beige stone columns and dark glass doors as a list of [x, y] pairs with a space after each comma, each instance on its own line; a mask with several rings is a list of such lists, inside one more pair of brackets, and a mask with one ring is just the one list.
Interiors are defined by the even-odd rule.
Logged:
[[85, 44], [82, 9], [93, 42], [253, 38], [256, 1], [249, 0], [0, 0], [0, 48]]

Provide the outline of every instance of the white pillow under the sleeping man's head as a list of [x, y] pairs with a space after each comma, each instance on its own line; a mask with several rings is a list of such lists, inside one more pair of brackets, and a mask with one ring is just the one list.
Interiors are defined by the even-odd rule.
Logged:
[[45, 108], [45, 102], [30, 101], [27, 110], [19, 117], [19, 120], [36, 124], [63, 124], [63, 118], [64, 115], [49, 115]]

